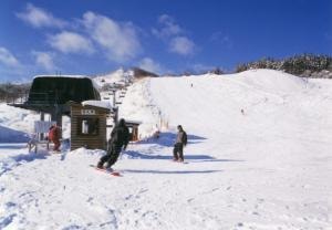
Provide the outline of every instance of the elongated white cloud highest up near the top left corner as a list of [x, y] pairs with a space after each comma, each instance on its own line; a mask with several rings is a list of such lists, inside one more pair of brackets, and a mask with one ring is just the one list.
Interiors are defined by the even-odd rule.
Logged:
[[17, 17], [34, 28], [55, 27], [63, 28], [66, 22], [52, 15], [52, 13], [37, 8], [31, 3], [27, 4], [23, 12], [17, 13]]

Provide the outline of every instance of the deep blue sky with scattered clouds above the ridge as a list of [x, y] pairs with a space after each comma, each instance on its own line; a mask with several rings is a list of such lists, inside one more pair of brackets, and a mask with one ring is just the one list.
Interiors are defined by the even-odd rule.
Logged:
[[2, 0], [0, 82], [332, 54], [329, 0]]

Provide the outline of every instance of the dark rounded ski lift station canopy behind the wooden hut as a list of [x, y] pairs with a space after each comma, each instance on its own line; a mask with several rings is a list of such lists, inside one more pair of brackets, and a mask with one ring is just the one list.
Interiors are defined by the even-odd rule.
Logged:
[[81, 103], [89, 100], [101, 100], [91, 79], [48, 75], [34, 77], [27, 102], [11, 105], [50, 114], [51, 121], [55, 121], [59, 126], [62, 126], [62, 116], [70, 116], [70, 106], [66, 103], [70, 101]]

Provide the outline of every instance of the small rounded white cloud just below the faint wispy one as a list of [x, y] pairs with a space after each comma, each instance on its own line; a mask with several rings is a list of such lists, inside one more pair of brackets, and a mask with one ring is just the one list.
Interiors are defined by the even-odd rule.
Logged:
[[195, 43], [186, 36], [176, 36], [169, 42], [170, 52], [189, 55], [194, 53]]

